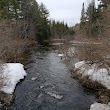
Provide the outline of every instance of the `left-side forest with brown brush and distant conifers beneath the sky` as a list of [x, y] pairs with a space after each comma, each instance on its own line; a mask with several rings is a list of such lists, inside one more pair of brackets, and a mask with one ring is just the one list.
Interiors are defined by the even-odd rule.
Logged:
[[17, 57], [30, 45], [48, 45], [51, 38], [61, 38], [69, 29], [64, 22], [48, 17], [48, 9], [36, 0], [1, 0], [1, 62], [16, 62]]

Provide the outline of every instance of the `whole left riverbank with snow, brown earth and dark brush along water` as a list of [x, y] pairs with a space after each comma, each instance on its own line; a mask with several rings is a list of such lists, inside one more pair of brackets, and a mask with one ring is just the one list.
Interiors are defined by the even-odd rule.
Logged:
[[30, 48], [35, 47], [35, 44], [30, 42], [21, 53], [7, 57], [7, 63], [0, 65], [0, 109], [13, 103], [16, 85], [27, 75], [25, 65], [29, 63]]

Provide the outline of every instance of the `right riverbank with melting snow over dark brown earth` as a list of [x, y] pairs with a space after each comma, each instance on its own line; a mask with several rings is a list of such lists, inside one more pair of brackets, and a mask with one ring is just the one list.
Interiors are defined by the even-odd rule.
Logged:
[[[97, 102], [91, 105], [90, 110], [110, 109], [110, 75], [107, 64], [80, 61], [75, 63], [72, 77], [77, 78], [81, 85], [95, 92]], [[105, 106], [106, 107], [103, 107]]]

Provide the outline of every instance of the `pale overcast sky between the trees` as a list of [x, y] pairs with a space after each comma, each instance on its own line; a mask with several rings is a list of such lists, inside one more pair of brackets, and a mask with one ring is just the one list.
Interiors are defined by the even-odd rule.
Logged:
[[80, 21], [82, 3], [86, 6], [90, 0], [36, 0], [42, 2], [50, 12], [50, 18], [64, 21], [70, 26]]

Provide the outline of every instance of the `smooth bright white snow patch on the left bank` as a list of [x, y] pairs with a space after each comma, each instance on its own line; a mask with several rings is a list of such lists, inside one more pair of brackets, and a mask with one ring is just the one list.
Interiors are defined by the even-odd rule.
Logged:
[[24, 79], [24, 76], [27, 75], [23, 68], [23, 65], [20, 63], [4, 64], [2, 74], [5, 77], [5, 86], [1, 88], [1, 91], [7, 94], [12, 94], [14, 92], [16, 84], [20, 81], [20, 79]]

